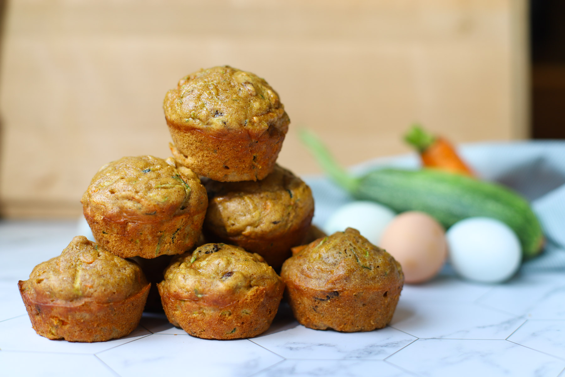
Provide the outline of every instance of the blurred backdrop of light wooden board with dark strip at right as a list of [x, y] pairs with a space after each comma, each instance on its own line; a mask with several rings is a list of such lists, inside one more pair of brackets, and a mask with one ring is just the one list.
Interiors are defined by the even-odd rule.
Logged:
[[279, 163], [345, 165], [410, 149], [413, 122], [454, 142], [565, 137], [558, 0], [1, 1], [0, 215], [76, 218], [100, 166], [169, 155], [180, 77], [257, 73], [291, 124]]

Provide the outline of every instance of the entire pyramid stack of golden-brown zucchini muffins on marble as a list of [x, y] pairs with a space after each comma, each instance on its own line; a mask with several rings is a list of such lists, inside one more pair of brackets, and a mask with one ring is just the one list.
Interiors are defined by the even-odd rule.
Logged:
[[324, 238], [311, 227], [310, 188], [276, 164], [290, 121], [266, 81], [228, 66], [200, 70], [169, 90], [163, 107], [173, 157], [103, 166], [82, 197], [97, 243], [77, 236], [20, 281], [37, 333], [124, 336], [149, 294], [146, 309], [162, 304], [190, 335], [257, 336], [285, 283], [305, 326], [368, 331], [390, 321], [398, 263], [354, 229]]

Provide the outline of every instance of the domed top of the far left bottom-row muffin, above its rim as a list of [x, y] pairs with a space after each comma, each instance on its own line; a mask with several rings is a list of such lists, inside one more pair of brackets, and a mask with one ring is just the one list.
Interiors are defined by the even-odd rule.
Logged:
[[92, 298], [103, 304], [125, 300], [146, 285], [136, 263], [76, 236], [61, 255], [33, 268], [24, 289], [33, 289], [37, 301]]

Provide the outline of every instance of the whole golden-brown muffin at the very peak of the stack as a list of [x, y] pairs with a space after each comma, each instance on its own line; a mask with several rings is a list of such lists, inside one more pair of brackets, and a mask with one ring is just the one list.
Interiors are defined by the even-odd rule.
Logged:
[[177, 161], [217, 181], [266, 177], [290, 123], [265, 80], [228, 66], [183, 77], [163, 110]]

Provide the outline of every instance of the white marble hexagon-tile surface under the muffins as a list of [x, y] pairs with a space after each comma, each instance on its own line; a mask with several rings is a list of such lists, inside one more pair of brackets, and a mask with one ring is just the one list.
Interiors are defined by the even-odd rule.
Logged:
[[1, 376], [565, 377], [565, 274], [557, 273], [485, 285], [446, 268], [406, 285], [390, 326], [372, 332], [311, 330], [283, 305], [253, 339], [197, 339], [144, 314], [123, 339], [47, 340], [31, 328], [17, 282], [75, 235], [75, 222], [0, 223]]

